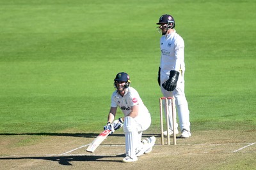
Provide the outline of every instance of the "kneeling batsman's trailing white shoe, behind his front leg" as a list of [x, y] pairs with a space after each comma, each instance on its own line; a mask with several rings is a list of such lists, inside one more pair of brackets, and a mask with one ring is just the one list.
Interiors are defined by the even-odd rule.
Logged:
[[147, 139], [143, 139], [141, 141], [142, 148], [140, 148], [140, 150], [136, 150], [136, 155], [137, 157], [140, 157], [141, 155], [143, 155], [144, 153], [150, 153], [153, 149], [153, 146], [156, 143], [156, 137], [155, 136], [151, 136]]

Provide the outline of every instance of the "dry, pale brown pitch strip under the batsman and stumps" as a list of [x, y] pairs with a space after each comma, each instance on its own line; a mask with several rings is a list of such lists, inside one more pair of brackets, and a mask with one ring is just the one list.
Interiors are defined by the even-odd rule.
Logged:
[[[0, 169], [252, 169], [256, 167], [256, 136], [252, 132], [201, 131], [177, 138], [177, 145], [161, 145], [160, 134], [152, 152], [124, 163], [124, 135], [113, 134], [93, 153], [86, 152], [98, 133], [77, 136], [1, 135]], [[227, 136], [232, 134], [232, 136]], [[250, 138], [248, 138], [250, 136]]]

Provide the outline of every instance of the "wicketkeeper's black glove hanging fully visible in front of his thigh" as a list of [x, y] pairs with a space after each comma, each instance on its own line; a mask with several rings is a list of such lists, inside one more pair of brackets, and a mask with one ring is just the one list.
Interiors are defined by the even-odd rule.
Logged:
[[179, 71], [171, 70], [169, 79], [162, 84], [163, 88], [167, 91], [173, 91], [177, 86], [179, 74]]

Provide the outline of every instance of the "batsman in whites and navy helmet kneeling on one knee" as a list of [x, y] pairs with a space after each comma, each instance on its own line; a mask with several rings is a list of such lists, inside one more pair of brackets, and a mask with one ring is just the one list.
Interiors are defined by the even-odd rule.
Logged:
[[[138, 156], [152, 151], [156, 138], [154, 136], [141, 141], [142, 132], [151, 124], [150, 113], [143, 104], [138, 92], [130, 87], [130, 78], [127, 73], [118, 73], [115, 78], [115, 92], [111, 96], [111, 108], [108, 115], [108, 123], [104, 129], [114, 132], [123, 127], [125, 134], [125, 158], [124, 162], [134, 162]], [[116, 110], [119, 107], [124, 117], [115, 119]]]

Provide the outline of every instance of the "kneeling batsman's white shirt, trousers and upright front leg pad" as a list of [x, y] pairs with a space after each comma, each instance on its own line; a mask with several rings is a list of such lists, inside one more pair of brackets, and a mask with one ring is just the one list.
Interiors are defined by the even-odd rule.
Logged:
[[[131, 113], [132, 106], [139, 106], [138, 116], [135, 118], [126, 117]], [[132, 87], [125, 89], [124, 97], [120, 96], [117, 91], [111, 96], [111, 107], [119, 107], [125, 115], [124, 134], [125, 134], [125, 155], [136, 157], [136, 149], [140, 146], [143, 131], [147, 130], [151, 124], [150, 113], [143, 104], [137, 90]]]

